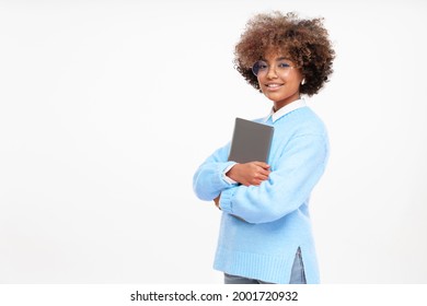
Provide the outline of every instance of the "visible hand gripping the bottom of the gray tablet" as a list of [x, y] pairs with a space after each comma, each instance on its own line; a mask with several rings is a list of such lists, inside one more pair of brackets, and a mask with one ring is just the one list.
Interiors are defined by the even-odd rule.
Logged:
[[259, 186], [268, 179], [269, 165], [263, 162], [250, 162], [235, 164], [226, 175], [244, 186]]

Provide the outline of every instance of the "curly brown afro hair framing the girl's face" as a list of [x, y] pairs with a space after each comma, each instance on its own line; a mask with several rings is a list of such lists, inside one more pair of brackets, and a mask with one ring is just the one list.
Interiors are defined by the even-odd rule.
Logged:
[[243, 78], [261, 92], [252, 66], [268, 50], [286, 55], [300, 69], [304, 84], [300, 93], [312, 96], [328, 81], [335, 51], [323, 19], [302, 20], [296, 13], [257, 14], [251, 19], [235, 45], [234, 64]]

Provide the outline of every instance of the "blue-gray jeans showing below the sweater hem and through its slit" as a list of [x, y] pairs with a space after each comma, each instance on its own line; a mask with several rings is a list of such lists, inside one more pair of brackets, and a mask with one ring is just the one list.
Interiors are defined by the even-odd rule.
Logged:
[[[295, 256], [292, 272], [290, 273], [290, 284], [307, 284], [304, 264], [302, 263], [301, 249], [298, 248]], [[261, 280], [247, 279], [224, 273], [224, 284], [270, 284]]]

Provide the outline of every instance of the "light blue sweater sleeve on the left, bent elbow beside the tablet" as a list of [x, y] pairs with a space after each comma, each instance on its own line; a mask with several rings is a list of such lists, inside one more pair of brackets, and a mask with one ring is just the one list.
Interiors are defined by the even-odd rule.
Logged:
[[223, 179], [223, 172], [234, 162], [228, 161], [230, 143], [218, 149], [196, 170], [193, 177], [193, 189], [200, 200], [211, 201], [221, 191], [234, 185]]

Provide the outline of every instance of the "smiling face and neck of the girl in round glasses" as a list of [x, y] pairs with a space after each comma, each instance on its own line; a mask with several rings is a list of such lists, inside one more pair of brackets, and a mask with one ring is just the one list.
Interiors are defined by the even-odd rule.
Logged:
[[302, 74], [288, 57], [269, 51], [253, 68], [264, 95], [274, 102], [277, 111], [300, 98]]

